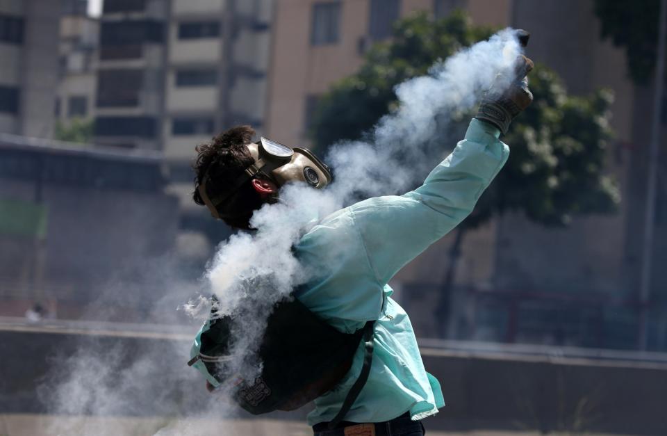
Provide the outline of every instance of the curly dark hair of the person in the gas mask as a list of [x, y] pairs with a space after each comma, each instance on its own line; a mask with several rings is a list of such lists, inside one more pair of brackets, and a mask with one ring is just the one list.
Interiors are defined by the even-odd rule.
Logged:
[[[205, 205], [198, 188], [206, 172], [206, 193], [208, 197], [215, 197], [223, 193], [226, 186], [233, 184], [242, 172], [254, 163], [248, 147], [245, 146], [252, 141], [254, 134], [255, 131], [250, 126], [236, 126], [213, 137], [210, 142], [195, 147], [197, 159], [192, 165], [195, 170], [192, 200], [195, 200], [195, 203]], [[262, 204], [264, 200], [254, 190], [251, 182], [247, 181], [224, 203], [218, 204], [217, 211], [227, 225], [238, 229], [252, 229], [249, 220]]]

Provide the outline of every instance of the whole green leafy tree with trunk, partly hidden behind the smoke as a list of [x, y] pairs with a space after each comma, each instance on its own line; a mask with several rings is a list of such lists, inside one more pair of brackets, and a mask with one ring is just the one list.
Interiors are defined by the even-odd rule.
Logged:
[[[360, 70], [324, 95], [313, 123], [315, 145], [361, 138], [396, 107], [393, 89], [398, 83], [427, 74], [439, 58], [487, 38], [492, 31], [471, 26], [461, 11], [436, 21], [420, 14], [397, 22], [394, 38], [372, 47]], [[449, 312], [456, 261], [468, 229], [509, 210], [546, 226], [565, 226], [573, 215], [616, 210], [618, 189], [604, 175], [611, 93], [598, 90], [586, 97], [570, 96], [557, 74], [543, 65], [531, 73], [530, 88], [533, 104], [504, 138], [511, 144], [511, 159], [456, 229], [436, 309], [439, 318]], [[470, 115], [457, 122], [467, 123]]]

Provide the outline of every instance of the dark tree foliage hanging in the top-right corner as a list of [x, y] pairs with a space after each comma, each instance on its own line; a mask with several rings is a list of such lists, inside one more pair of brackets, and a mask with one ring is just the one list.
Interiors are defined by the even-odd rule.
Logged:
[[655, 68], [659, 10], [659, 0], [595, 0], [602, 38], [625, 47], [627, 69], [635, 83], [648, 83]]

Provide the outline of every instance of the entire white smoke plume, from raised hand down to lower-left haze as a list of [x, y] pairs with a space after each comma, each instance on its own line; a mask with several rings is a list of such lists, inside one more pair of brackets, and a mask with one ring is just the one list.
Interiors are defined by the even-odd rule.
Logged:
[[[396, 88], [399, 108], [380, 120], [370, 140], [331, 147], [324, 159], [333, 168], [335, 179], [331, 186], [324, 191], [297, 184], [283, 186], [279, 202], [254, 213], [251, 224], [256, 232], [238, 233], [220, 244], [205, 277], [210, 293], [217, 298], [218, 316], [233, 315], [242, 320], [233, 329], [234, 372], [252, 380], [261, 370], [261, 362], [247, 357], [258, 348], [271, 307], [311, 277], [312, 272], [302, 271], [291, 251], [301, 236], [318, 220], [360, 197], [403, 193], [412, 188], [415, 179], [425, 177], [461, 139], [448, 137], [450, 120], [455, 114], [470, 111], [498, 72], [505, 72], [503, 76], [509, 78], [511, 74], [507, 73], [518, 54], [520, 46], [513, 31], [505, 29], [488, 41], [437, 63], [427, 76], [400, 84]], [[163, 298], [170, 302], [180, 299], [182, 307], [195, 318], [192, 325], [201, 323], [211, 309], [206, 293], [196, 297], [179, 286], [165, 286]], [[183, 305], [188, 298], [190, 303]], [[165, 323], [172, 318], [165, 315]], [[192, 335], [194, 330], [193, 327]], [[162, 401], [165, 407], [160, 410], [173, 407], [172, 414], [185, 413], [187, 417], [236, 414], [236, 407], [224, 402], [220, 394], [205, 394], [205, 405], [188, 412], [170, 399], [172, 377], [190, 383], [192, 391], [204, 390], [204, 378], [185, 366], [189, 349], [190, 344], [179, 341], [169, 351], [134, 350], [134, 359], [127, 366], [115, 357], [122, 352], [92, 348], [65, 362], [67, 376], [64, 381], [57, 378], [56, 386], [51, 383], [45, 398], [53, 412], [65, 414], [115, 414], [128, 407], [141, 409], [145, 401]], [[156, 365], [156, 361], [160, 364]], [[167, 371], [166, 366], [174, 370]], [[65, 429], [53, 434], [88, 433]], [[197, 426], [175, 423], [157, 434], [210, 433]], [[216, 434], [233, 433], [217, 428]]]

